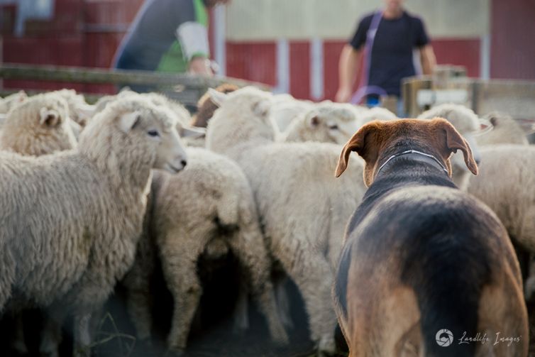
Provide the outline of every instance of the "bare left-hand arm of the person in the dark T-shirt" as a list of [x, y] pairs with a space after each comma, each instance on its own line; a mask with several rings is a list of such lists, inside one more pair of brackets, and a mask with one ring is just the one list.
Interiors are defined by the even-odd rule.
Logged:
[[338, 61], [339, 85], [335, 97], [336, 101], [346, 102], [351, 99], [361, 57], [362, 50], [355, 50], [350, 44], [343, 46], [340, 60]]

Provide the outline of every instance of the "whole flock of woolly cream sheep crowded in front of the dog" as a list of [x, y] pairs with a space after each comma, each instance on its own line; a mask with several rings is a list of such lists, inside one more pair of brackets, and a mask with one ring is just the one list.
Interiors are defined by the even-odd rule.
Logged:
[[[482, 132], [480, 118], [454, 104], [420, 118], [435, 116], [480, 160], [470, 177], [454, 155], [456, 184], [495, 211], [520, 250], [535, 253], [535, 148], [522, 129], [490, 114], [492, 130]], [[236, 329], [248, 328], [251, 298], [272, 341], [287, 344], [290, 279], [310, 339], [333, 353], [334, 270], [366, 190], [356, 155], [345, 175], [334, 171], [341, 145], [375, 119], [396, 116], [253, 87], [209, 90], [193, 118], [160, 94], [129, 90], [94, 105], [67, 89], [0, 99], [0, 312], [15, 317], [13, 348], [27, 352], [18, 314], [39, 307], [41, 353], [58, 356], [60, 327], [72, 316], [75, 353], [89, 354], [92, 317], [118, 284], [136, 337], [150, 341], [159, 263], [174, 300], [167, 348], [181, 353], [202, 296], [199, 259], [232, 253], [241, 270]], [[526, 270], [529, 298], [535, 265]]]

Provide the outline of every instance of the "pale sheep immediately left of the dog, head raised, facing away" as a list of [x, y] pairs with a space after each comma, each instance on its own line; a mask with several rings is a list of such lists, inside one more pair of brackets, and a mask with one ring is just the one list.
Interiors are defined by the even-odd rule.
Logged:
[[211, 92], [221, 104], [208, 125], [206, 147], [238, 162], [255, 195], [270, 252], [302, 293], [311, 339], [334, 350], [333, 268], [349, 216], [363, 197], [363, 164], [334, 180], [340, 146], [273, 143], [271, 95], [252, 87]]

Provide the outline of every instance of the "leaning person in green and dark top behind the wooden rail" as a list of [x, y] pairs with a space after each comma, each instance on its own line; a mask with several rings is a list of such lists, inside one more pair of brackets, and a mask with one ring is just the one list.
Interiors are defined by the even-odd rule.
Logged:
[[213, 75], [207, 9], [230, 0], [146, 0], [119, 45], [121, 70]]

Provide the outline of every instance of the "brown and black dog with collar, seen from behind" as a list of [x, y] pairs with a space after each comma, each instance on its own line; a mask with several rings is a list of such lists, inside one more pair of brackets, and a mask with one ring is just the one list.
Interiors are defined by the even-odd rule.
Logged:
[[[470, 147], [444, 119], [374, 121], [355, 133], [369, 186], [334, 286], [350, 356], [527, 356], [517, 258], [501, 222], [451, 181]], [[475, 341], [477, 340], [477, 341]]]

